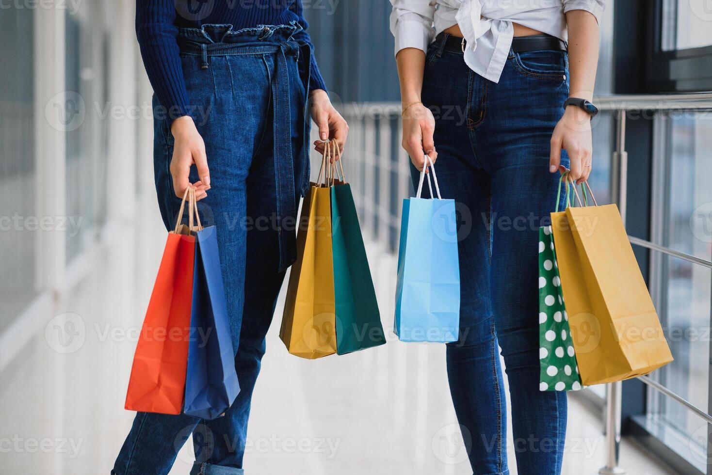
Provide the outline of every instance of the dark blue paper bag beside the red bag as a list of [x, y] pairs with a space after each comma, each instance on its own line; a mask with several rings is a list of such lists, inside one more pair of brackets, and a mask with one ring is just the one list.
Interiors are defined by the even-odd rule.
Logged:
[[196, 233], [193, 305], [183, 412], [222, 415], [240, 392], [215, 226]]

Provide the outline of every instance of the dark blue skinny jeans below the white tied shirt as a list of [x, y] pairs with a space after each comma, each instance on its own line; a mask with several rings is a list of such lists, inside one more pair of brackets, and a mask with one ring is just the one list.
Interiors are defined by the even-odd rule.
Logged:
[[[538, 228], [549, 224], [559, 179], [548, 170], [549, 141], [567, 76], [562, 51], [510, 52], [498, 83], [473, 73], [461, 49], [442, 39], [426, 56], [422, 100], [436, 117], [435, 170], [442, 197], [456, 201], [459, 233], [460, 337], [447, 346], [447, 372], [475, 474], [508, 474], [498, 345], [518, 473], [561, 471], [566, 394], [539, 391], [537, 281]], [[418, 176], [412, 167], [414, 183]]]

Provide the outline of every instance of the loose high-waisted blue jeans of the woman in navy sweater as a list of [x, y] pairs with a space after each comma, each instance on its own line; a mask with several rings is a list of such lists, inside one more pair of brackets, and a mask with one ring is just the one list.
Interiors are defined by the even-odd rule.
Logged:
[[[193, 434], [192, 474], [243, 474], [250, 400], [285, 269], [295, 258], [295, 219], [308, 186], [310, 49], [293, 23], [233, 32], [229, 25], [185, 28], [179, 36], [192, 116], [205, 142], [211, 190], [199, 202], [216, 225], [241, 391], [224, 417], [139, 412], [113, 474], [167, 474]], [[155, 180], [164, 224], [180, 199], [169, 165], [173, 137], [154, 102]], [[198, 181], [195, 169], [190, 181]]]

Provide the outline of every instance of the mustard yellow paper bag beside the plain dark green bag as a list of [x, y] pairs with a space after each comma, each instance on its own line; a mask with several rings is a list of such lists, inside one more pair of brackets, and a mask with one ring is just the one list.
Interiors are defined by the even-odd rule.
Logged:
[[[280, 338], [289, 353], [315, 359], [336, 353], [331, 190], [313, 184], [304, 197]], [[308, 218], [305, 218], [308, 217]]]

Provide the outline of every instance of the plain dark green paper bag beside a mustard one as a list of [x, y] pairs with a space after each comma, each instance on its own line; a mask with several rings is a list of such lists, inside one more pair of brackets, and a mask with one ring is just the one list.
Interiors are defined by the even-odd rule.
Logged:
[[386, 343], [348, 183], [335, 182], [331, 188], [331, 225], [336, 349], [343, 355]]

